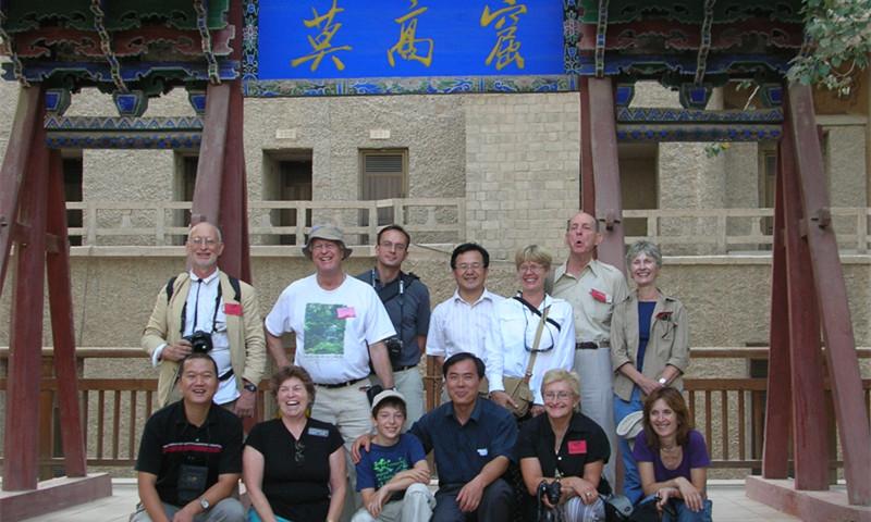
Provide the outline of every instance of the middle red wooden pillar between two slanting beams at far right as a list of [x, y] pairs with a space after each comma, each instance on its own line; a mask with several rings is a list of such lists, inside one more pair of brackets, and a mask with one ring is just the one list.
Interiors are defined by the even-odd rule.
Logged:
[[[801, 190], [795, 171], [790, 121], [781, 144], [784, 243], [789, 310], [789, 361], [793, 390], [793, 460], [797, 489], [827, 489], [829, 451], [825, 430], [820, 312], [813, 288], [808, 244], [800, 232]], [[815, 138], [815, 137], [814, 137]]]

